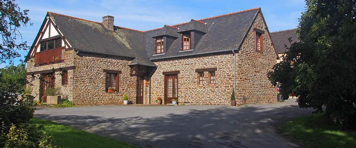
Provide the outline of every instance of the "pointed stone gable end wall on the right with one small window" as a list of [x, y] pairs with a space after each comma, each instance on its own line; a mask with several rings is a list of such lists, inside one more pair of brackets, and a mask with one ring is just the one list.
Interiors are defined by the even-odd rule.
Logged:
[[[262, 52], [255, 50], [255, 32], [258, 28], [263, 34]], [[272, 86], [267, 73], [276, 64], [277, 55], [271, 44], [266, 24], [261, 13], [258, 13], [255, 22], [248, 32], [237, 57], [237, 85], [236, 100], [245, 103], [273, 103], [277, 102], [276, 87]]]

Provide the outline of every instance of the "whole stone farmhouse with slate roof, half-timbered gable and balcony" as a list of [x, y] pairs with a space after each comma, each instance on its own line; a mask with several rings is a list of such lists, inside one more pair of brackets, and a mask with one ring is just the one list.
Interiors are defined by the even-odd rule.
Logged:
[[[234, 65], [234, 53], [236, 64]], [[277, 102], [267, 72], [278, 54], [260, 8], [138, 31], [47, 12], [26, 62], [32, 95], [60, 88], [75, 105]], [[109, 89], [110, 88], [110, 89]]]

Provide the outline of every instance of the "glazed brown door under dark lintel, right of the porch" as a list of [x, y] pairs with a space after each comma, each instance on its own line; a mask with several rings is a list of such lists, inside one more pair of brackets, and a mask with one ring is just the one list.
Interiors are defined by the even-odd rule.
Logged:
[[178, 76], [164, 76], [164, 104], [172, 103], [172, 99], [178, 99]]

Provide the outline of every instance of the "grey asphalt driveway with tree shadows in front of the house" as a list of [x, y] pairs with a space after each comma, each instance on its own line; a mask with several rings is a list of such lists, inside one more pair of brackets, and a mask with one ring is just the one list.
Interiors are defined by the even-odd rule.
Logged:
[[243, 106], [85, 106], [36, 109], [35, 116], [140, 147], [299, 147], [276, 125], [310, 114], [295, 99]]

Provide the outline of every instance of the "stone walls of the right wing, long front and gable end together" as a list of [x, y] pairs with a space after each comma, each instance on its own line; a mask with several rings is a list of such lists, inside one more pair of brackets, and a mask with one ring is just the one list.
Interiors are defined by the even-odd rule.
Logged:
[[[267, 78], [267, 72], [276, 63], [276, 54], [271, 45], [266, 25], [260, 14], [257, 15], [250, 31], [236, 55], [236, 101], [237, 104], [277, 102], [276, 88]], [[265, 31], [263, 51], [255, 50], [255, 32], [253, 28]], [[230, 95], [234, 88], [234, 56], [232, 53], [190, 57], [156, 62], [158, 68], [151, 77], [152, 100], [162, 97], [164, 102], [164, 75], [162, 72], [177, 71], [178, 100], [184, 104], [230, 104]], [[209, 72], [204, 72], [204, 85], [198, 85], [198, 73], [195, 69], [217, 67], [216, 83], [209, 84]], [[147, 99], [145, 100], [148, 101]], [[152, 101], [152, 103], [155, 103]]]

